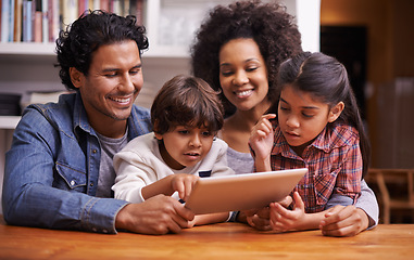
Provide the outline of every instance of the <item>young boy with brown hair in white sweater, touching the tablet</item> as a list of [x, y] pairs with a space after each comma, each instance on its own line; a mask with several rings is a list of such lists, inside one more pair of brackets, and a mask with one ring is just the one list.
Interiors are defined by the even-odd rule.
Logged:
[[[114, 156], [115, 198], [141, 203], [158, 194], [187, 200], [199, 177], [234, 174], [227, 144], [215, 139], [223, 126], [217, 92], [202, 79], [176, 76], [151, 107], [154, 132], [138, 136]], [[190, 225], [222, 222], [229, 213], [196, 216]]]

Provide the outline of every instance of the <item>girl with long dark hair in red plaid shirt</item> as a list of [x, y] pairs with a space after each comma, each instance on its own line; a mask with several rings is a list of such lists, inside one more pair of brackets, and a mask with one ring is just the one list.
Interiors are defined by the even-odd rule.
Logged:
[[[341, 63], [323, 53], [301, 53], [284, 62], [279, 99], [262, 116], [249, 140], [258, 171], [306, 167], [294, 188], [294, 208], [271, 205], [279, 232], [317, 229], [331, 198], [354, 205], [369, 165], [369, 141]], [[277, 117], [277, 122], [271, 120]], [[303, 200], [302, 200], [303, 199]]]

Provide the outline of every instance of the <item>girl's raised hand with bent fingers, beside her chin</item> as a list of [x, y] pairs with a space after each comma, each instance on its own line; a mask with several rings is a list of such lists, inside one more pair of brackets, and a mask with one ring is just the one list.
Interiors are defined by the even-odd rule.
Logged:
[[263, 115], [253, 127], [249, 144], [254, 151], [256, 159], [265, 160], [269, 157], [273, 147], [273, 126], [269, 119], [276, 118], [275, 114]]

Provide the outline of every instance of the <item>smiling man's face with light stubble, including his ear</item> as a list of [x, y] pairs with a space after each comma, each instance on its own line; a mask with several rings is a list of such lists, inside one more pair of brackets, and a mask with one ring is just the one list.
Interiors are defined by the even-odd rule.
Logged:
[[100, 47], [92, 54], [88, 76], [80, 74], [74, 84], [96, 130], [126, 122], [143, 84], [137, 43], [128, 40]]

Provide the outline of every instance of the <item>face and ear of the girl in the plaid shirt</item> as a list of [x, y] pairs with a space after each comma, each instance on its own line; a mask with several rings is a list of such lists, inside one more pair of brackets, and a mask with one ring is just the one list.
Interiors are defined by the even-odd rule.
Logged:
[[301, 156], [303, 150], [328, 122], [339, 117], [342, 109], [342, 102], [329, 109], [328, 104], [318, 102], [312, 94], [287, 84], [280, 93], [278, 122], [286, 141]]

